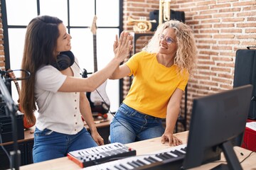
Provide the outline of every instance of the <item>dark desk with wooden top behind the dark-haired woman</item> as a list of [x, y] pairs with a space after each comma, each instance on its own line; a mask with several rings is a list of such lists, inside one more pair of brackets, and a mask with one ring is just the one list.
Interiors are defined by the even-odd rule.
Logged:
[[[107, 116], [106, 122], [102, 123], [96, 123], [96, 128], [99, 134], [104, 139], [105, 144], [108, 143], [108, 137], [110, 135], [110, 122], [112, 120], [112, 115]], [[27, 165], [33, 163], [33, 157], [32, 157], [32, 149], [33, 149], [33, 138], [34, 138], [34, 130], [35, 126], [32, 128], [29, 128], [24, 131], [24, 139], [18, 140], [18, 149], [21, 151], [21, 165]], [[87, 128], [88, 132], [90, 132], [89, 127], [85, 125], [85, 128]], [[4, 145], [7, 152], [10, 152], [13, 149], [13, 142], [5, 142], [0, 145]], [[9, 159], [6, 156], [6, 153], [1, 149], [0, 147], [0, 169], [8, 169], [9, 166]]]

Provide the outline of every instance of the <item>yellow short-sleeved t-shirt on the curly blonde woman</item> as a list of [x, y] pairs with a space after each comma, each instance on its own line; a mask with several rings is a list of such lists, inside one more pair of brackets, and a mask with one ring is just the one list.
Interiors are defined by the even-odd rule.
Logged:
[[176, 65], [165, 67], [156, 60], [156, 54], [138, 52], [125, 64], [134, 75], [132, 86], [123, 103], [135, 110], [166, 118], [166, 109], [176, 88], [185, 90], [189, 74], [181, 74]]

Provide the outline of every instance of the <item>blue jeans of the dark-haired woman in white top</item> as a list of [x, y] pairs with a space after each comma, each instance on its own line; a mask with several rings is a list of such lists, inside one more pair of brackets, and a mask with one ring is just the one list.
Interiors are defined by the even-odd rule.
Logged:
[[97, 146], [85, 128], [75, 135], [66, 135], [48, 129], [41, 131], [36, 128], [34, 137], [34, 163], [65, 157], [68, 152]]

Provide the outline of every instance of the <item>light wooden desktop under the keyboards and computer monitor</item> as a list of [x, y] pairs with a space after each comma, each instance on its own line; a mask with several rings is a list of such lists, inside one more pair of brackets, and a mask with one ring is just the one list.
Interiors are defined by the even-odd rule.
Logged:
[[[176, 133], [176, 135], [183, 141], [183, 143], [187, 142], [187, 137], [188, 137], [188, 131], [186, 132], [180, 132], [180, 133]], [[166, 149], [169, 148], [169, 145], [166, 144], [161, 144], [161, 138], [160, 137], [156, 137], [154, 139], [151, 140], [144, 140], [144, 141], [140, 141], [140, 142], [133, 142], [130, 144], [127, 144], [127, 146], [132, 147], [133, 149], [136, 149], [137, 151], [137, 155], [141, 155], [141, 154], [148, 154], [150, 152], [156, 152], [158, 150], [161, 149]], [[240, 152], [242, 152], [244, 155], [241, 156]], [[247, 157], [250, 154], [250, 150], [247, 149], [243, 149], [242, 147], [235, 147], [235, 153], [238, 155], [238, 159], [240, 160], [240, 162], [242, 161], [242, 159], [245, 159], [245, 157]], [[245, 162], [242, 162], [242, 168], [243, 169], [251, 169], [251, 170], [255, 170], [256, 169], [256, 153], [252, 153], [250, 157], [248, 157]], [[222, 164], [223, 161], [225, 161], [225, 158], [222, 155], [222, 158], [220, 161], [218, 162], [213, 162], [210, 164], [206, 164], [203, 166], [199, 166], [196, 169], [211, 169], [215, 166], [217, 166], [218, 164]], [[68, 159], [68, 157], [63, 157], [63, 158], [59, 158], [59, 159], [53, 159], [50, 161], [46, 161], [46, 162], [40, 162], [40, 163], [36, 163], [36, 164], [29, 164], [26, 166], [21, 166], [20, 167], [21, 170], [32, 170], [32, 169], [48, 169], [48, 170], [75, 170], [75, 169], [81, 169], [80, 166], [78, 166], [77, 164], [75, 164], [74, 162], [72, 162], [70, 159]]]

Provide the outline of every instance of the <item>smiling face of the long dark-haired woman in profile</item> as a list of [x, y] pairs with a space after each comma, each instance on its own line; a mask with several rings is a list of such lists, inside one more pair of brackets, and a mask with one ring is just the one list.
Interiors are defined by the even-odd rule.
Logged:
[[60, 36], [57, 39], [56, 53], [71, 50], [71, 36], [67, 33], [67, 29], [63, 23], [58, 26]]

